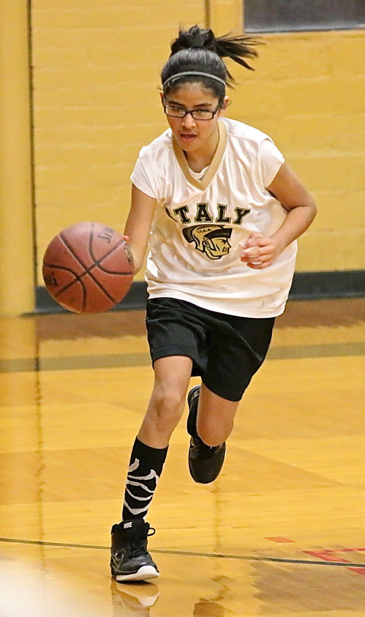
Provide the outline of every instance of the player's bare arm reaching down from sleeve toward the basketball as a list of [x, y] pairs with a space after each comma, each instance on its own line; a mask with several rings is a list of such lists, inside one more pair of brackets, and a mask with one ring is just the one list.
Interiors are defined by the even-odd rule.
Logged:
[[128, 236], [128, 244], [135, 263], [135, 274], [143, 266], [155, 207], [156, 199], [132, 184], [132, 204], [124, 234]]

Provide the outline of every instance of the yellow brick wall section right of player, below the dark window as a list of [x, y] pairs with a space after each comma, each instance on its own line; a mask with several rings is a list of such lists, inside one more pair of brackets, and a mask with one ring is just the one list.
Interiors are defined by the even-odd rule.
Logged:
[[364, 31], [262, 35], [230, 115], [271, 135], [319, 207], [297, 271], [365, 267]]

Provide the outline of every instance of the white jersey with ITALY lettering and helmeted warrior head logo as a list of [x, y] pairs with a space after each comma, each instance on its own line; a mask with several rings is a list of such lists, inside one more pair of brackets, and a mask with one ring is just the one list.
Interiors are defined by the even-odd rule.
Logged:
[[149, 297], [241, 317], [283, 312], [296, 242], [262, 270], [240, 260], [250, 233], [270, 236], [287, 215], [266, 189], [283, 160], [267, 135], [227, 118], [219, 120], [219, 144], [201, 180], [170, 129], [141, 149], [131, 179], [157, 201], [146, 269]]

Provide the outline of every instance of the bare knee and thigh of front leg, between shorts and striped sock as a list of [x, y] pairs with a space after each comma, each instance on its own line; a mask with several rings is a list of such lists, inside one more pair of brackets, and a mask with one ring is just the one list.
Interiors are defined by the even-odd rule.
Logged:
[[180, 420], [191, 376], [191, 358], [174, 355], [154, 363], [154, 387], [138, 439], [153, 448], [166, 448]]

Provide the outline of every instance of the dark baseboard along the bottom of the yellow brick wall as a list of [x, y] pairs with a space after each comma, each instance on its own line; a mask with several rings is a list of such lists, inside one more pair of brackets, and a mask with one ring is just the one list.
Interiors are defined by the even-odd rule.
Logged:
[[[358, 298], [365, 296], [365, 270], [336, 270], [327, 272], [296, 272], [289, 300], [321, 300]], [[127, 296], [112, 311], [143, 310], [147, 291], [144, 281], [132, 284]], [[67, 313], [49, 295], [45, 287], [36, 288], [35, 313]]]

